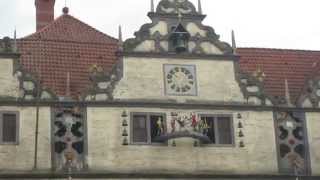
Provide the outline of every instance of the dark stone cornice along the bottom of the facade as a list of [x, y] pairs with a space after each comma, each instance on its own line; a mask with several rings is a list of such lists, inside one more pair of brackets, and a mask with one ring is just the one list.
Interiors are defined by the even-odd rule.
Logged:
[[[290, 175], [223, 175], [223, 174], [196, 174], [196, 173], [125, 173], [125, 172], [107, 172], [107, 171], [84, 171], [79, 173], [59, 173], [52, 171], [27, 171], [27, 172], [6, 172], [0, 173], [0, 178], [5, 179], [66, 179], [82, 178], [82, 179], [96, 179], [96, 178], [114, 178], [114, 179], [155, 179], [155, 178], [180, 178], [180, 179], [217, 179], [217, 180], [296, 180], [296, 176]], [[300, 176], [300, 180], [318, 180], [319, 176]]]

